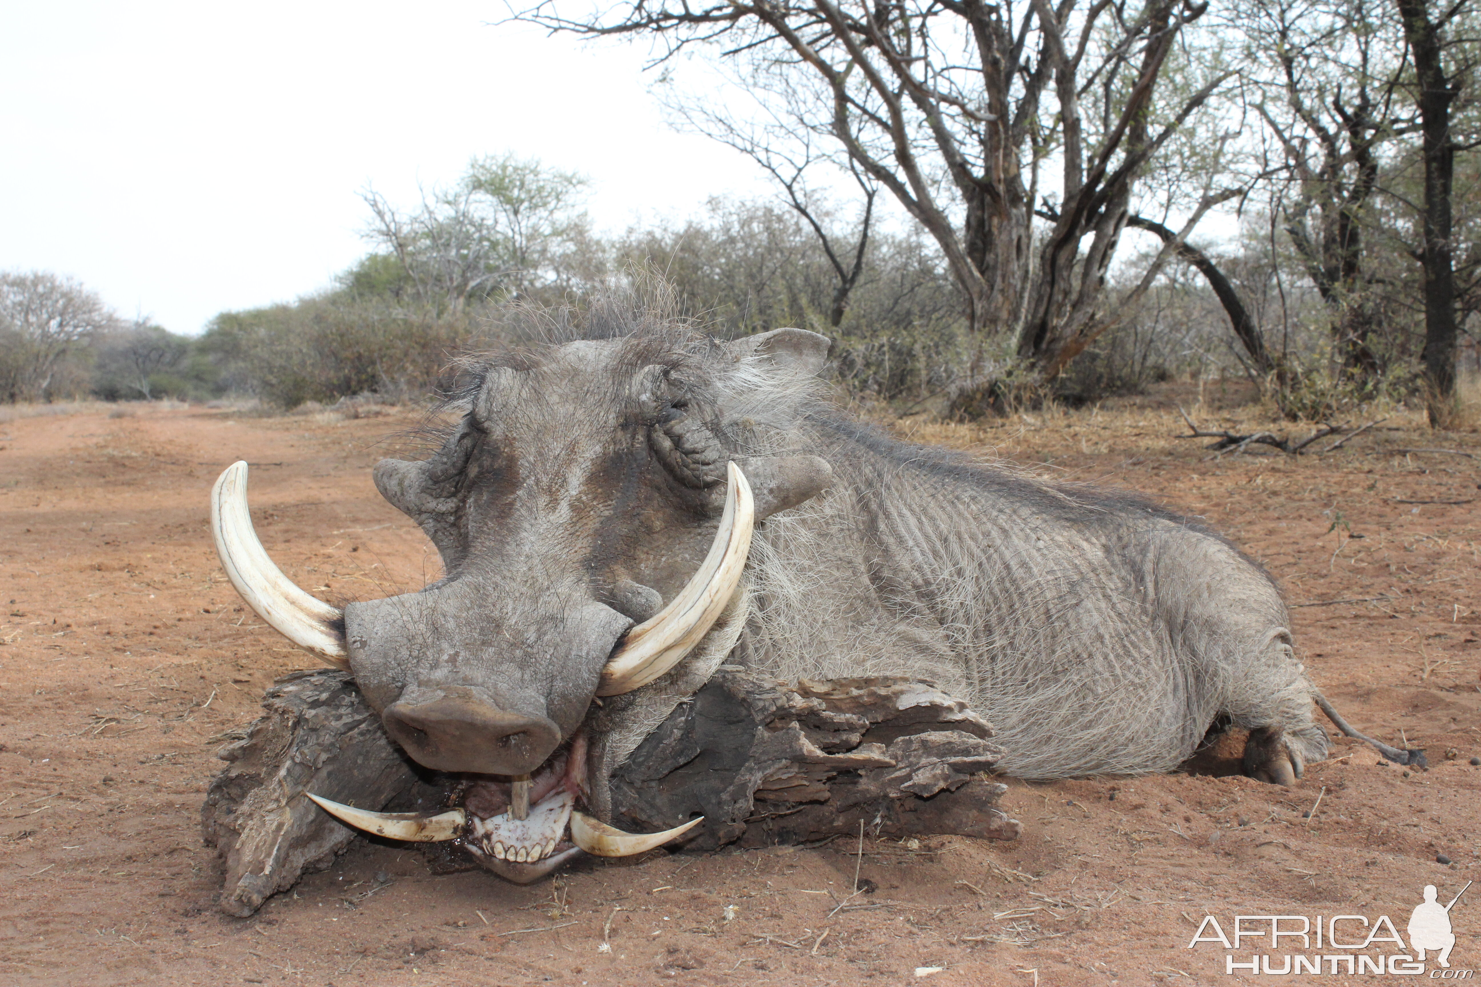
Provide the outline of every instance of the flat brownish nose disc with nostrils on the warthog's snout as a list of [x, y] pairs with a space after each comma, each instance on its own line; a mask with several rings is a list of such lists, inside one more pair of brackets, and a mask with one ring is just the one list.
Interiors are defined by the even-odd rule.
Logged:
[[529, 774], [560, 744], [548, 718], [499, 709], [464, 688], [392, 703], [381, 719], [406, 753], [437, 771]]

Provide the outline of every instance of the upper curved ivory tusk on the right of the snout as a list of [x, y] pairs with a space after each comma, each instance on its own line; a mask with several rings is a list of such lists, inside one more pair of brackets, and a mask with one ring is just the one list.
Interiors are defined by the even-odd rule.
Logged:
[[733, 462], [727, 476], [726, 511], [703, 564], [668, 607], [628, 630], [622, 647], [601, 669], [597, 695], [631, 693], [672, 669], [730, 605], [751, 550], [755, 502], [751, 484]]

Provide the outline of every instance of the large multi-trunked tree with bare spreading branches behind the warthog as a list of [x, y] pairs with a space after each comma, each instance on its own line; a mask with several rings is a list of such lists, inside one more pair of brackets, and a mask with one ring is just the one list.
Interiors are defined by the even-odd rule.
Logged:
[[973, 329], [1012, 333], [1043, 377], [1112, 324], [1136, 179], [1226, 78], [1158, 98], [1206, 10], [1189, 0], [625, 0], [588, 18], [555, 3], [518, 18], [656, 38], [659, 61], [709, 47], [788, 93], [936, 241]]

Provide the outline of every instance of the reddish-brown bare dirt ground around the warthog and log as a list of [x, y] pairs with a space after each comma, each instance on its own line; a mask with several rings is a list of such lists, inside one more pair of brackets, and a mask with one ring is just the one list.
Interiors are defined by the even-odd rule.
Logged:
[[[335, 601], [418, 587], [435, 553], [369, 471], [406, 420], [7, 413], [0, 984], [1211, 984], [1247, 975], [1226, 974], [1217, 943], [1189, 949], [1207, 914], [1229, 934], [1235, 914], [1388, 914], [1403, 932], [1426, 883], [1444, 903], [1481, 876], [1481, 438], [1397, 413], [1328, 453], [1210, 457], [1173, 438], [1176, 397], [1200, 398], [897, 428], [1204, 515], [1280, 579], [1337, 709], [1426, 747], [1428, 771], [1340, 740], [1288, 790], [1007, 780], [1012, 843], [656, 851], [527, 888], [357, 841], [247, 920], [215, 909], [198, 808], [221, 734], [308, 658], [227, 583], [206, 494], [246, 459], [258, 531], [299, 585]], [[1303, 434], [1201, 397], [1204, 428]], [[1481, 886], [1450, 916], [1453, 969], [1481, 968]], [[1297, 947], [1266, 937], [1228, 956]], [[1333, 969], [1296, 980], [1373, 980]]]

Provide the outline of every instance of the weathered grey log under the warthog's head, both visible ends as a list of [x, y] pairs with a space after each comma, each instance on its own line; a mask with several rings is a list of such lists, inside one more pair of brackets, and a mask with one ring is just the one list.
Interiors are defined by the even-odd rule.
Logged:
[[[459, 799], [464, 783], [410, 762], [344, 672], [286, 676], [262, 706], [267, 713], [218, 752], [231, 767], [201, 809], [206, 842], [225, 861], [228, 914], [253, 913], [355, 838], [305, 792], [370, 809]], [[927, 682], [803, 679], [791, 688], [721, 666], [613, 772], [612, 821], [643, 832], [703, 814], [692, 849], [804, 843], [857, 833], [860, 823], [871, 836], [1013, 839], [1020, 824], [997, 808], [1007, 789], [983, 777], [1001, 755], [991, 735], [966, 703]], [[437, 872], [477, 866], [458, 843], [424, 849]]]

